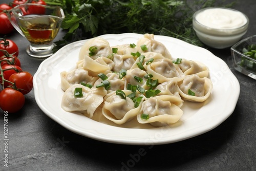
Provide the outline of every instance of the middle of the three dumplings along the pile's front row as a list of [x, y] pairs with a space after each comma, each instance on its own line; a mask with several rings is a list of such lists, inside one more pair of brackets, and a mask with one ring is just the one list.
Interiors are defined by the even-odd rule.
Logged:
[[[129, 95], [132, 92], [123, 90], [125, 95]], [[134, 102], [129, 97], [123, 99], [121, 96], [116, 95], [116, 92], [111, 92], [105, 97], [102, 114], [109, 120], [116, 124], [123, 124], [133, 119], [140, 111], [142, 102], [135, 108]]]

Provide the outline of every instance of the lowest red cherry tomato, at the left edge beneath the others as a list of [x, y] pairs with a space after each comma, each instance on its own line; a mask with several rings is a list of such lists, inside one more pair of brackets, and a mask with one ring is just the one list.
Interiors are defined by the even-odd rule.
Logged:
[[12, 88], [5, 88], [0, 92], [0, 108], [8, 113], [15, 113], [25, 104], [24, 95]]

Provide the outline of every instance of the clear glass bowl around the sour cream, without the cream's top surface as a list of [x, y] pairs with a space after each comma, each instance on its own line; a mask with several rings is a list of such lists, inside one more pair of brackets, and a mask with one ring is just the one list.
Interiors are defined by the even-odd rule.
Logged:
[[[208, 9], [223, 9], [227, 11], [237, 12], [242, 14], [246, 18], [246, 23], [243, 26], [232, 28], [232, 29], [219, 29], [214, 27], [208, 27], [201, 24], [197, 19], [196, 16], [205, 10]], [[214, 15], [211, 16], [212, 18], [218, 18]], [[241, 37], [247, 32], [249, 25], [248, 17], [243, 14], [242, 12], [230, 8], [224, 7], [209, 7], [203, 8], [198, 10], [193, 15], [193, 29], [196, 32], [198, 38], [207, 46], [216, 48], [216, 49], [224, 49], [230, 48], [232, 45], [236, 44]]]

